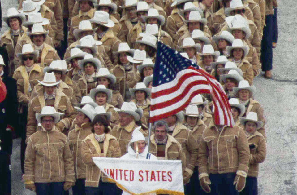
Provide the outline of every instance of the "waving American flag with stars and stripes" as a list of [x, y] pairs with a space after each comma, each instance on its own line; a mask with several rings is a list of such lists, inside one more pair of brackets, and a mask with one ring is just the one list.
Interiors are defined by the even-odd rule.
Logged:
[[222, 85], [194, 62], [161, 42], [158, 42], [153, 74], [150, 122], [178, 113], [195, 95], [209, 93], [215, 107], [215, 124], [234, 125]]

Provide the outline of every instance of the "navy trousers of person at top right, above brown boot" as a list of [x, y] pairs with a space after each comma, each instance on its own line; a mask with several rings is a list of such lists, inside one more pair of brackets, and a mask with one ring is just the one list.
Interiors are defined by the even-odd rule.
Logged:
[[263, 29], [263, 37], [261, 41], [262, 71], [272, 70], [272, 36], [273, 36], [273, 15], [266, 15]]

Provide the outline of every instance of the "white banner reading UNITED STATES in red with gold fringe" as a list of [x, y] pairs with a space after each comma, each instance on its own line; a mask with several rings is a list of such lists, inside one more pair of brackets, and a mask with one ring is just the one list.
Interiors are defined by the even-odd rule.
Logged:
[[182, 163], [179, 160], [93, 157], [93, 161], [119, 188], [130, 194], [184, 194]]

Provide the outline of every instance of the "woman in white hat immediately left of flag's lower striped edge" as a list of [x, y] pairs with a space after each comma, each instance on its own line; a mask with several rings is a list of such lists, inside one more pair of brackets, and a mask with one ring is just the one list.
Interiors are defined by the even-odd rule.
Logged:
[[129, 91], [131, 97], [133, 98], [130, 102], [134, 102], [137, 108], [141, 108], [143, 110], [143, 114], [140, 119], [141, 123], [148, 126], [151, 89], [147, 88], [143, 82], [139, 82], [136, 84], [135, 88], [130, 88]]

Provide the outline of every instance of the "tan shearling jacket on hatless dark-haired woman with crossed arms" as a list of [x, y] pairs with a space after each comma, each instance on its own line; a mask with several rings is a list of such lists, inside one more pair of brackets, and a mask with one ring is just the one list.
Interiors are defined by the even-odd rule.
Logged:
[[[104, 157], [119, 158], [121, 157], [121, 150], [116, 138], [110, 134], [105, 134], [103, 144]], [[86, 181], [85, 186], [97, 188], [99, 185], [100, 177], [103, 182], [108, 182], [108, 178], [103, 174], [100, 169], [93, 162], [92, 157], [99, 157], [101, 148], [98, 141], [95, 139], [94, 134], [88, 135], [82, 142], [81, 156], [84, 164], [86, 165]]]

